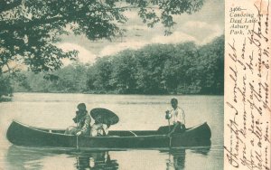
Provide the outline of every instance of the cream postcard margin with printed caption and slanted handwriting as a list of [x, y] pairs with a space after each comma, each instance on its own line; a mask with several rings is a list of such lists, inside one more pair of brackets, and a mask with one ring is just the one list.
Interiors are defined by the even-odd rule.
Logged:
[[270, 0], [225, 1], [224, 169], [270, 170]]

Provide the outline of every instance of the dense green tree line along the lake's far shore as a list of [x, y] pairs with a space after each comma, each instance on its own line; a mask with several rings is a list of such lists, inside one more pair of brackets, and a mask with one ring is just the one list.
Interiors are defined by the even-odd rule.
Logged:
[[150, 44], [57, 71], [21, 71], [9, 83], [33, 92], [223, 94], [224, 36], [201, 46]]

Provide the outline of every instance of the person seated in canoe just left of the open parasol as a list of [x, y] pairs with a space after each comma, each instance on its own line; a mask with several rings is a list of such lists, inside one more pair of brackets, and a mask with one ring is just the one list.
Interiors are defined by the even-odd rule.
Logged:
[[91, 118], [85, 103], [79, 103], [77, 109], [75, 118], [72, 118], [77, 127], [68, 127], [65, 134], [89, 136]]

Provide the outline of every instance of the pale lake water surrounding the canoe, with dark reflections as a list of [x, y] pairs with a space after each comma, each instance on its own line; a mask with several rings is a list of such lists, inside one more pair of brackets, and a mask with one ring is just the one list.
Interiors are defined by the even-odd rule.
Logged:
[[[110, 129], [157, 129], [167, 125], [164, 111], [171, 109], [173, 97], [185, 110], [186, 127], [208, 122], [210, 147], [84, 152], [13, 146], [5, 138], [13, 119], [35, 127], [69, 127], [79, 102], [88, 110], [117, 113], [120, 120]], [[15, 93], [13, 101], [0, 103], [0, 169], [223, 169], [223, 117], [223, 96]]]

